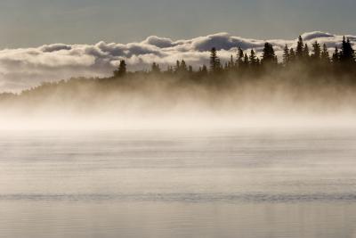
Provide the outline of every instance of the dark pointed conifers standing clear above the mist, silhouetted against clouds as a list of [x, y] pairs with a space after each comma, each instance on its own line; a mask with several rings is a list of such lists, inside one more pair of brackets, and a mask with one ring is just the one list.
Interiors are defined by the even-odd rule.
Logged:
[[[263, 47], [262, 57], [256, 55], [254, 49], [244, 52], [240, 47], [236, 55], [231, 55], [228, 62], [222, 62], [216, 48], [211, 49], [209, 65], [201, 65], [198, 69], [188, 65], [184, 60], [177, 61], [175, 66], [167, 66], [165, 70], [154, 62], [149, 71], [145, 73], [180, 76], [182, 78], [215, 78], [219, 76], [235, 76], [254, 78], [265, 77], [271, 73], [300, 71], [312, 77], [355, 77], [356, 57], [350, 39], [344, 37], [341, 47], [336, 46], [335, 52], [330, 55], [327, 45], [320, 45], [315, 41], [312, 45], [305, 44], [299, 37], [295, 48], [284, 48], [282, 59], [278, 59], [273, 46], [266, 42]], [[138, 73], [138, 72], [136, 72]], [[142, 72], [141, 72], [142, 73]], [[114, 78], [123, 78], [130, 74], [126, 70], [125, 61], [121, 61]], [[133, 74], [133, 73], [131, 73]], [[356, 78], [355, 78], [356, 83]]]

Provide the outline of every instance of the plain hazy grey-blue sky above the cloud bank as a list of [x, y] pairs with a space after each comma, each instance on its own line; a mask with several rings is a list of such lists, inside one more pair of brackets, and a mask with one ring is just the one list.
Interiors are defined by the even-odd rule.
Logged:
[[221, 31], [261, 39], [355, 34], [355, 9], [355, 0], [1, 0], [0, 48]]

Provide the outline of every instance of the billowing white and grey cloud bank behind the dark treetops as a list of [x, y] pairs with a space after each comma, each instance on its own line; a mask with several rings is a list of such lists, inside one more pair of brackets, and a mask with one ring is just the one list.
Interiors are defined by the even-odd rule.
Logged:
[[[356, 45], [356, 36], [346, 37]], [[343, 36], [316, 31], [303, 34], [303, 39], [309, 45], [315, 40], [320, 44], [325, 43], [332, 52], [336, 45], [340, 45]], [[266, 41], [274, 46], [279, 57], [284, 45], [296, 45], [296, 40], [257, 40], [218, 33], [177, 41], [152, 36], [140, 43], [126, 45], [99, 42], [96, 45], [53, 44], [37, 48], [5, 49], [0, 51], [0, 92], [16, 92], [37, 86], [43, 81], [70, 77], [109, 76], [121, 59], [126, 60], [129, 70], [150, 69], [152, 62], [166, 67], [182, 59], [197, 67], [208, 63], [208, 51], [212, 47], [216, 47], [222, 60], [227, 61], [231, 54], [236, 54], [237, 47], [243, 50], [253, 48], [261, 53]]]

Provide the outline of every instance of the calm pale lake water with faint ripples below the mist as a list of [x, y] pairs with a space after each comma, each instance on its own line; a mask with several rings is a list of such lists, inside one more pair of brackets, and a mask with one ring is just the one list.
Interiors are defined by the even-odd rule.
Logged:
[[355, 132], [2, 132], [0, 237], [356, 237]]

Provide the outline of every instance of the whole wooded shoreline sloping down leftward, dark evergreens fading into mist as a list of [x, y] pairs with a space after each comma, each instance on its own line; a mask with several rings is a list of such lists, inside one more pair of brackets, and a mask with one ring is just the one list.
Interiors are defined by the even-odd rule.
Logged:
[[[43, 98], [59, 95], [61, 98], [105, 97], [107, 94], [158, 94], [171, 93], [180, 88], [190, 88], [227, 94], [231, 90], [239, 94], [302, 94], [317, 97], [318, 93], [335, 91], [335, 94], [356, 95], [356, 57], [350, 40], [344, 37], [340, 47], [329, 54], [327, 45], [315, 41], [312, 45], [299, 37], [295, 48], [286, 45], [282, 58], [278, 59], [273, 46], [266, 42], [261, 57], [255, 50], [236, 55], [223, 62], [215, 48], [211, 49], [210, 62], [193, 69], [184, 60], [161, 69], [153, 62], [150, 70], [128, 71], [122, 60], [113, 76], [109, 78], [70, 78], [55, 82], [44, 82], [22, 91], [20, 94], [0, 94], [0, 102], [21, 99], [40, 102]], [[256, 90], [259, 90], [258, 92]], [[254, 90], [256, 91], [254, 93]], [[100, 95], [100, 96], [99, 96]], [[305, 96], [307, 98], [307, 96]]]

